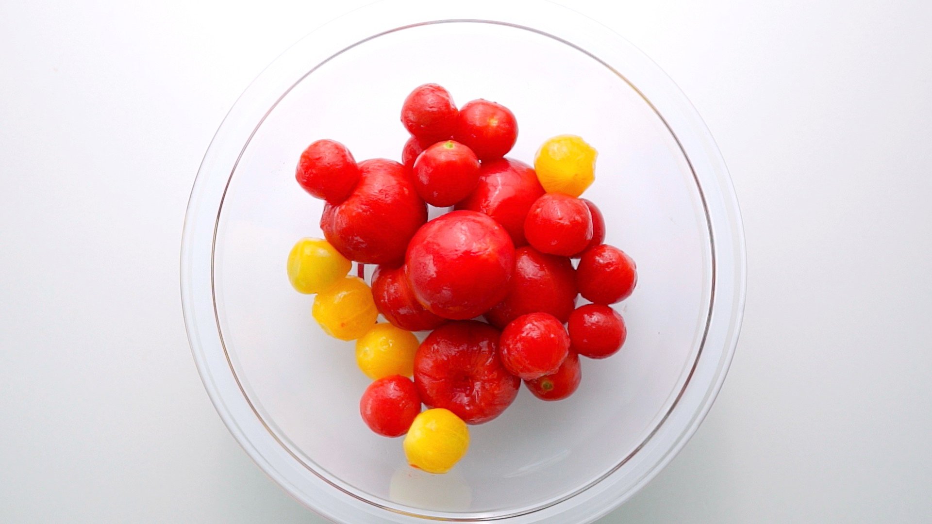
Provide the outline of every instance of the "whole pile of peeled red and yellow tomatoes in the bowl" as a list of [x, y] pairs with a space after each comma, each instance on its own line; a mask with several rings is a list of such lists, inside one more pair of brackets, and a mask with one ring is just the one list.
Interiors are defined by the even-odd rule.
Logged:
[[[582, 138], [546, 141], [531, 168], [505, 158], [518, 130], [508, 108], [458, 108], [436, 84], [407, 96], [401, 120], [411, 134], [401, 163], [357, 162], [332, 140], [302, 153], [297, 182], [326, 202], [324, 238], [295, 244], [288, 276], [316, 294], [324, 332], [356, 340], [374, 380], [363, 421], [405, 435], [411, 465], [445, 473], [469, 447], [467, 424], [498, 417], [522, 381], [561, 400], [580, 385], [580, 355], [621, 349], [624, 320], [610, 305], [631, 295], [637, 270], [579, 198], [596, 167]], [[428, 205], [452, 209], [428, 221]], [[377, 265], [371, 286], [348, 275], [353, 261]], [[589, 303], [577, 307], [578, 296]]]

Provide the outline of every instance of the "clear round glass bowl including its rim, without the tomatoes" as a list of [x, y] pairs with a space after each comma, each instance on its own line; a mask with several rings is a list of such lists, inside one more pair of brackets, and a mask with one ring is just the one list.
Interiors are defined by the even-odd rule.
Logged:
[[[322, 236], [322, 202], [295, 184], [310, 142], [400, 159], [405, 95], [436, 82], [518, 119], [510, 157], [562, 133], [598, 149], [607, 242], [637, 261], [617, 305], [628, 338], [583, 359], [583, 383], [545, 403], [524, 387], [471, 427], [445, 476], [409, 468], [401, 439], [359, 416], [353, 346], [326, 337], [285, 275], [293, 243]], [[676, 85], [608, 28], [532, 0], [387, 1], [330, 22], [243, 93], [204, 157], [185, 217], [185, 324], [230, 432], [281, 487], [339, 522], [589, 522], [669, 462], [731, 361], [745, 293], [743, 233], [720, 154]]]

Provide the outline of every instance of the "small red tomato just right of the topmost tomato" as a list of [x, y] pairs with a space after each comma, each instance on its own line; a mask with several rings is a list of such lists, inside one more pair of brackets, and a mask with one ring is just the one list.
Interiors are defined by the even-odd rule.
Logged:
[[518, 139], [518, 122], [500, 103], [473, 100], [459, 110], [453, 137], [469, 146], [484, 162], [500, 159], [512, 150]]

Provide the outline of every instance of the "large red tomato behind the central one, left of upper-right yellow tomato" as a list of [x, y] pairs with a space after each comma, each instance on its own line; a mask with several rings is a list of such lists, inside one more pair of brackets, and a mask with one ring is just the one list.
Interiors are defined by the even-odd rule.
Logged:
[[456, 205], [458, 210], [484, 213], [501, 224], [515, 246], [526, 245], [524, 223], [530, 206], [543, 195], [534, 170], [524, 162], [499, 159], [483, 162], [473, 193]]

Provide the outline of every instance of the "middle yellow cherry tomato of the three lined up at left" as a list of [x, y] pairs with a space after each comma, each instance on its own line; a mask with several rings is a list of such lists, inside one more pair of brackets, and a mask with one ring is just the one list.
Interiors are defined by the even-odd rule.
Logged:
[[318, 293], [311, 313], [327, 335], [340, 340], [362, 337], [378, 316], [372, 290], [356, 277], [344, 277]]

